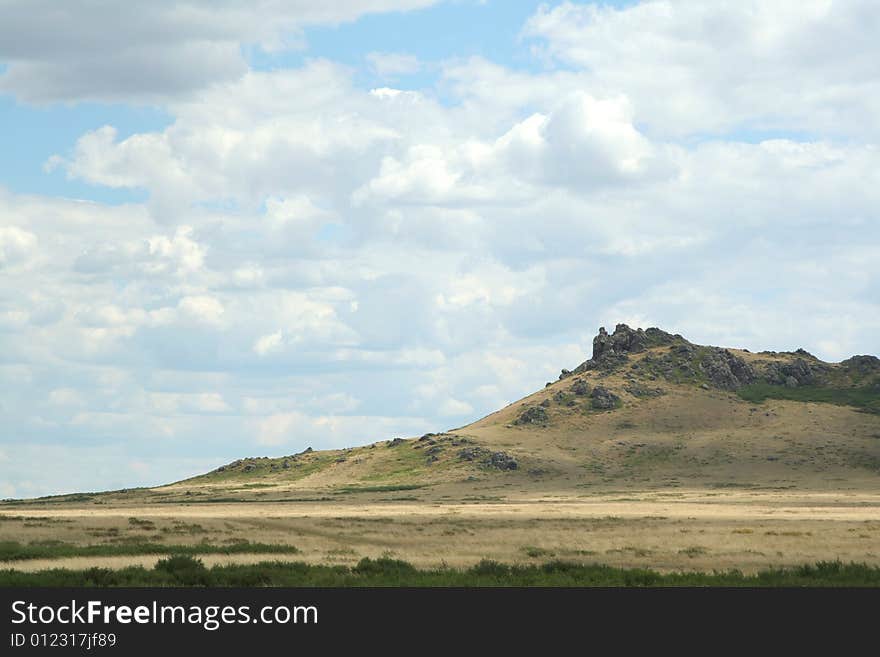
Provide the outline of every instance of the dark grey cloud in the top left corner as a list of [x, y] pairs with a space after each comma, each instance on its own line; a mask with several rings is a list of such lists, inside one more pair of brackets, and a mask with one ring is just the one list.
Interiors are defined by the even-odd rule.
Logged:
[[127, 2], [13, 0], [0, 9], [0, 91], [25, 102], [155, 102], [247, 72], [242, 45], [304, 46], [302, 30], [437, 0]]

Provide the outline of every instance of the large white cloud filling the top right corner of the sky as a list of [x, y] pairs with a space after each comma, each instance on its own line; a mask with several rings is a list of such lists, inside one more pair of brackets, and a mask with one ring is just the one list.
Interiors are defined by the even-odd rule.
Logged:
[[872, 0], [563, 2], [528, 21], [537, 51], [625, 92], [636, 119], [686, 135], [738, 126], [831, 134], [880, 130]]

